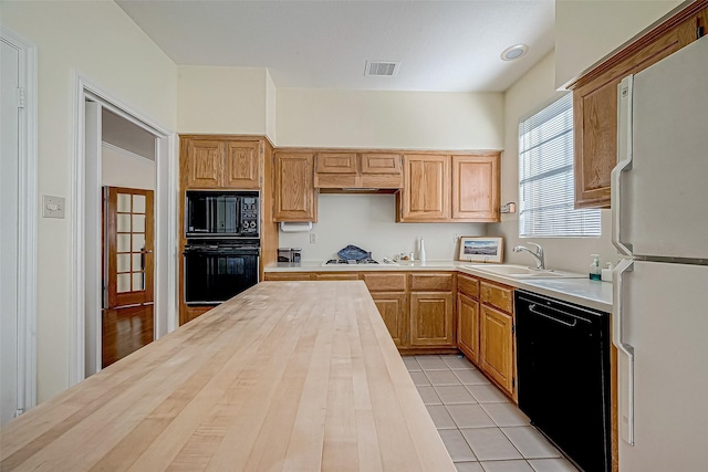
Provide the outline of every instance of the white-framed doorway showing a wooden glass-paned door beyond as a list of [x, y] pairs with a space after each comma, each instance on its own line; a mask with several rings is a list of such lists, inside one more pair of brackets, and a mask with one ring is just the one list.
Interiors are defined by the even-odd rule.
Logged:
[[[118, 349], [118, 340], [115, 337], [119, 334], [116, 331], [118, 326], [131, 326], [131, 319], [133, 325], [139, 324], [140, 345], [176, 327], [176, 274], [174, 251], [170, 250], [176, 241], [175, 200], [171, 198], [175, 192], [173, 176], [176, 169], [174, 159], [170, 159], [175, 148], [175, 136], [168, 135], [85, 78], [77, 76], [76, 84], [76, 178], [73, 189], [76, 218], [72, 234], [76, 264], [72, 274], [72, 304], [75, 313], [70, 370], [72, 385], [115, 361], [116, 357], [129, 354], [131, 349], [125, 348], [126, 345], [139, 347], [134, 346], [132, 340], [121, 340], [122, 347]], [[129, 220], [131, 225], [121, 227], [124, 231], [116, 228], [114, 264], [117, 264], [119, 259], [122, 265], [119, 271], [117, 265], [114, 265], [113, 290], [123, 295], [125, 281], [129, 280], [127, 292], [133, 295], [137, 292], [143, 294], [140, 300], [133, 303], [126, 302], [125, 297], [118, 297], [123, 304], [115, 306], [108, 304], [111, 282], [108, 277], [104, 277], [110, 272], [110, 258], [106, 258], [103, 251], [104, 187], [118, 188], [117, 195], [123, 193], [122, 201], [125, 201], [126, 196], [131, 200], [127, 211], [121, 211], [125, 210], [123, 207], [116, 208], [115, 211], [116, 224], [119, 219]], [[150, 195], [154, 216], [148, 217], [145, 208], [142, 209], [143, 213], [139, 212], [140, 198], [135, 198], [136, 204], [133, 204], [135, 192], [142, 192], [142, 198]], [[138, 231], [139, 224], [154, 228], [150, 248], [137, 248], [147, 243], [146, 232]], [[137, 241], [140, 238], [145, 241]], [[133, 251], [134, 243], [137, 244], [136, 251]], [[121, 244], [121, 248], [117, 248], [117, 244]], [[154, 272], [154, 275], [139, 269], [140, 264], [146, 265], [147, 260], [149, 271]], [[152, 289], [149, 295], [146, 295], [147, 290], [133, 290], [138, 287], [138, 282], [144, 289]], [[115, 300], [114, 296], [113, 301]], [[119, 312], [116, 312], [116, 308], [121, 308]], [[145, 316], [146, 310], [150, 312], [149, 317]], [[104, 323], [104, 316], [107, 323]], [[110, 354], [106, 359], [103, 356], [104, 347]]]

